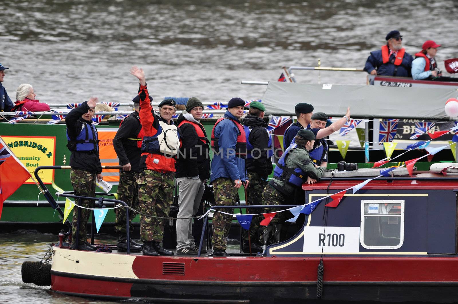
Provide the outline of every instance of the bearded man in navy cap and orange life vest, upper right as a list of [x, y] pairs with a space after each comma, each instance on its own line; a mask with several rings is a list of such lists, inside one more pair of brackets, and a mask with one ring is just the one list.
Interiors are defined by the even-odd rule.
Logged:
[[402, 47], [399, 31], [391, 31], [385, 37], [387, 44], [372, 51], [367, 58], [364, 71], [371, 75], [411, 77], [413, 57]]

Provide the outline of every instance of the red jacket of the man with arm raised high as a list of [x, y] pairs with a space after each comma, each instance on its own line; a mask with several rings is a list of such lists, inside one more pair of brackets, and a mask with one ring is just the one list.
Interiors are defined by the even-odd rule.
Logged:
[[[146, 86], [140, 85], [138, 89], [140, 95], [140, 122], [142, 123], [142, 130], [144, 136], [155, 136], [159, 129], [159, 119], [157, 115], [153, 114], [151, 107], [148, 89]], [[146, 94], [146, 97], [145, 95]], [[142, 100], [142, 98], [145, 98]], [[171, 122], [173, 124], [173, 121]], [[140, 171], [145, 169], [157, 172], [175, 172], [175, 157], [165, 157], [163, 154], [143, 152], [140, 157]]]

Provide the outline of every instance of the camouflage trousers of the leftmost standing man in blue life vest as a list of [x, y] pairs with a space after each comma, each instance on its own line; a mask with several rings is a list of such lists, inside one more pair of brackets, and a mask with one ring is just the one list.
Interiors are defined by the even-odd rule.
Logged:
[[[95, 182], [96, 174], [91, 173], [85, 170], [71, 169], [70, 170], [70, 181], [73, 186], [73, 191], [75, 195], [81, 196], [92, 196], [95, 195]], [[75, 200], [76, 205], [82, 207], [92, 208], [94, 206], [93, 200]], [[78, 223], [78, 209], [81, 210], [80, 213], [80, 230], [78, 236], [78, 242], [85, 242], [87, 240], [87, 219], [91, 215], [92, 210], [83, 209], [83, 208], [73, 208], [73, 220], [72, 220], [72, 234], [71, 242], [75, 244], [76, 241], [76, 226]]]

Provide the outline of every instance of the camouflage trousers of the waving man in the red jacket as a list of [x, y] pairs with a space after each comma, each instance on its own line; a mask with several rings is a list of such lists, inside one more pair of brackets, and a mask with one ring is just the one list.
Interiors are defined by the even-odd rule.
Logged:
[[164, 237], [164, 218], [169, 217], [173, 202], [174, 172], [161, 173], [144, 170], [137, 181], [140, 212], [155, 217], [140, 215], [140, 236], [142, 241], [161, 242]]

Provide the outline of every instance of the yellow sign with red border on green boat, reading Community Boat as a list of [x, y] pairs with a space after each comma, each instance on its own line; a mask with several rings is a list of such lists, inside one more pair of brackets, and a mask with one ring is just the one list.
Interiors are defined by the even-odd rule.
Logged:
[[[39, 166], [54, 166], [56, 138], [55, 136], [2, 136], [5, 143], [27, 168], [30, 175]], [[54, 170], [38, 172], [45, 184], [51, 184], [54, 179]], [[34, 184], [27, 179], [25, 184]]]

